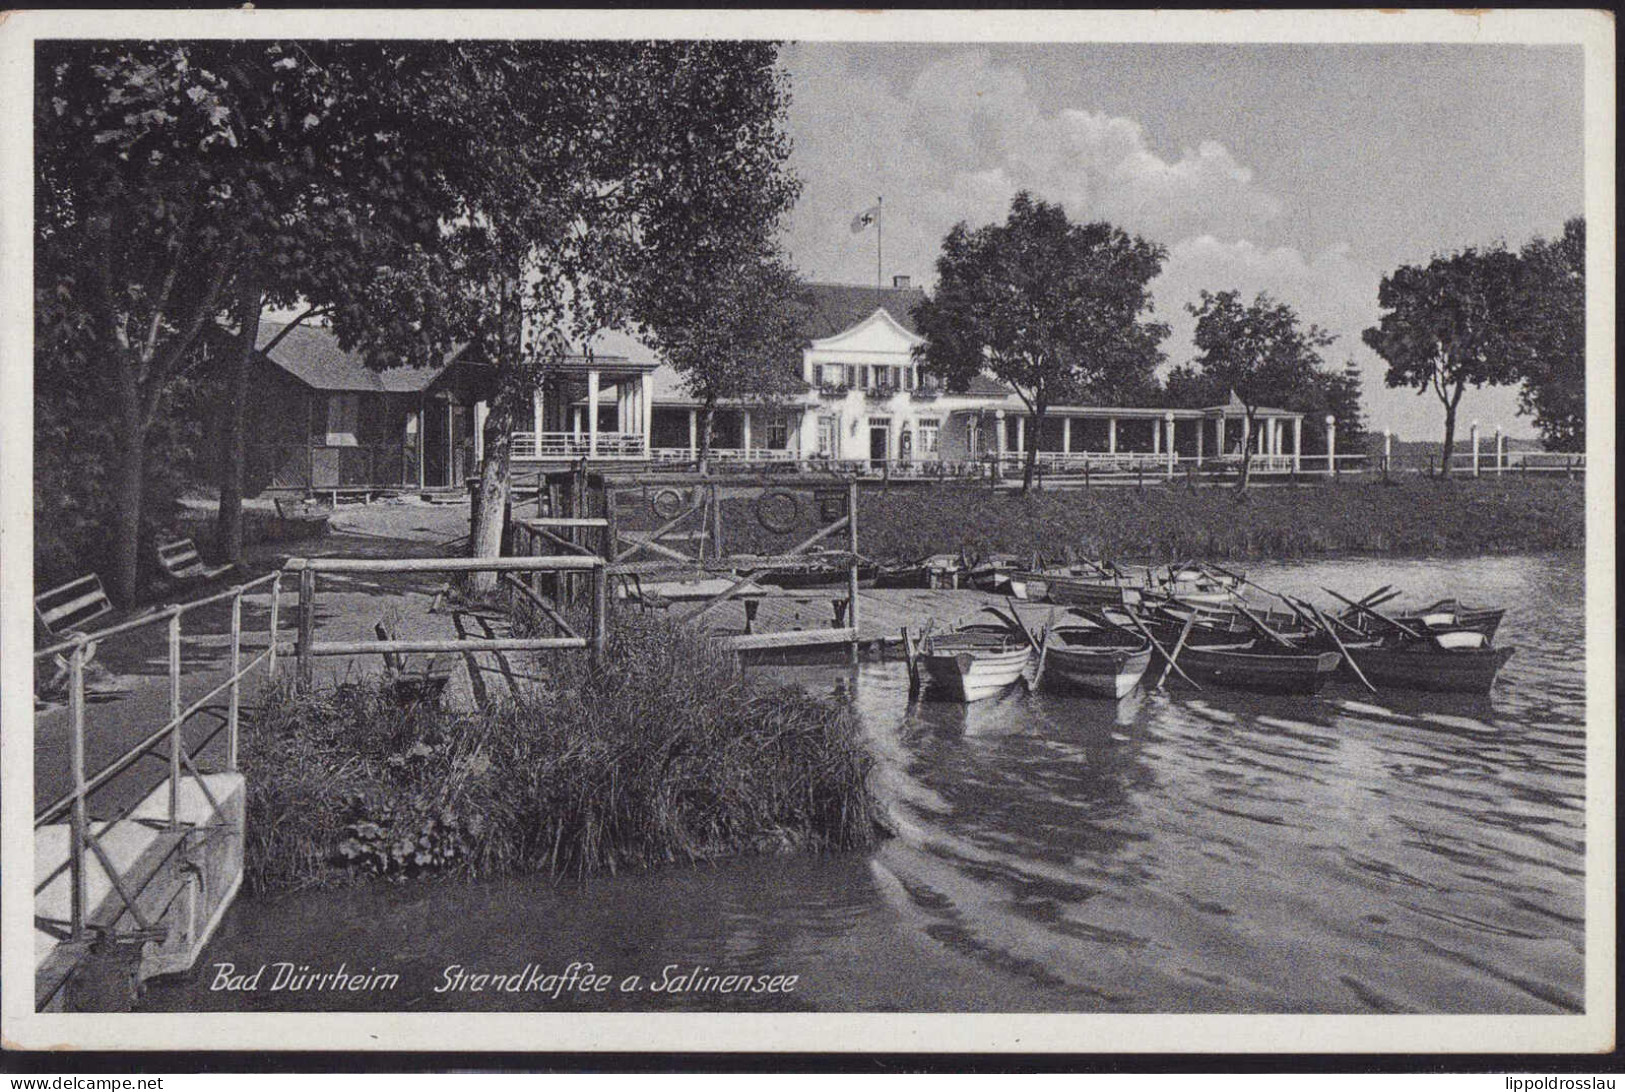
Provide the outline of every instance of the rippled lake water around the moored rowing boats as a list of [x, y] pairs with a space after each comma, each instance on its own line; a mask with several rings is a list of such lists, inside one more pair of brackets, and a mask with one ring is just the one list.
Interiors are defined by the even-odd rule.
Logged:
[[[1256, 564], [1503, 604], [1488, 697], [1029, 694], [908, 705], [902, 665], [770, 673], [853, 700], [899, 835], [869, 855], [242, 899], [143, 1009], [1578, 1012], [1580, 552]], [[218, 964], [268, 965], [258, 991]], [[275, 964], [400, 975], [271, 991]], [[444, 990], [593, 964], [608, 993]], [[650, 990], [796, 975], [790, 993]], [[670, 970], [668, 970], [670, 968]], [[455, 972], [452, 972], [455, 975]], [[637, 975], [637, 988], [619, 983]]]

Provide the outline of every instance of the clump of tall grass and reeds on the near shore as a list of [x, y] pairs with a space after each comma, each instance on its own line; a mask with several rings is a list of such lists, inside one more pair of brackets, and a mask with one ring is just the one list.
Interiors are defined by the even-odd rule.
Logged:
[[845, 707], [622, 616], [600, 673], [561, 656], [479, 712], [403, 708], [375, 682], [271, 692], [242, 738], [245, 871], [273, 892], [860, 848], [869, 762]]

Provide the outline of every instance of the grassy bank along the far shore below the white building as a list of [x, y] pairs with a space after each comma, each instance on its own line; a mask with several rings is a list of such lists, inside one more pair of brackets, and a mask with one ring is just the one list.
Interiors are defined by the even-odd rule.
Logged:
[[[751, 502], [728, 514], [728, 549], [772, 552], [816, 528], [812, 505], [772, 535]], [[991, 492], [986, 486], [864, 489], [858, 548], [869, 557], [931, 552], [1142, 557], [1438, 556], [1568, 549], [1584, 544], [1584, 483], [1394, 479], [1188, 491], [1183, 484], [1071, 492]], [[838, 544], [838, 543], [835, 543]]]

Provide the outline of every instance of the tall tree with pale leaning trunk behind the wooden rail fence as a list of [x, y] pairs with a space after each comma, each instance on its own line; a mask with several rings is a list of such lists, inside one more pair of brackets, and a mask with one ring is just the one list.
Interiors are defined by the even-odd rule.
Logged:
[[[473, 554], [500, 551], [510, 436], [570, 343], [640, 286], [777, 216], [786, 102], [770, 42], [468, 42], [422, 109], [460, 195], [442, 273], [497, 366]], [[746, 232], [752, 234], [752, 232]], [[491, 574], [470, 580], [479, 593]]]

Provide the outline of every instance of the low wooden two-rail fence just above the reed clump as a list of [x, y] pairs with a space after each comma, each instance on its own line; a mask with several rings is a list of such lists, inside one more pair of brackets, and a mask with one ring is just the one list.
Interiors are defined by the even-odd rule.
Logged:
[[[585, 648], [593, 663], [603, 656], [608, 642], [608, 590], [604, 561], [592, 556], [557, 557], [289, 557], [283, 572], [299, 574], [299, 682], [309, 686], [315, 673], [315, 656], [351, 656], [364, 653], [408, 652], [543, 652], [549, 648]], [[473, 640], [315, 640], [317, 574], [322, 572], [588, 572], [592, 574], [590, 635], [570, 632], [566, 637], [481, 637]]]

